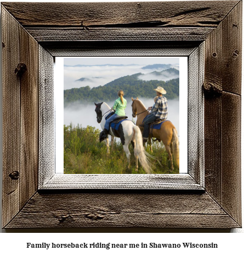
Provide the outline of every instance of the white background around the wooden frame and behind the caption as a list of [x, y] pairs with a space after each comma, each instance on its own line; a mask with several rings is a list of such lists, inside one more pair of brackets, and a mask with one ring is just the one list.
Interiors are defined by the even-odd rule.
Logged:
[[[7, 1], [5, 1], [7, 2]], [[9, 1], [16, 2], [16, 1]], [[33, 1], [21, 1], [21, 2], [33, 2]], [[35, 2], [50, 2], [50, 1], [35, 1]], [[53, 1], [53, 2], [67, 2], [67, 1]], [[72, 2], [116, 2], [116, 1], [72, 1]], [[123, 2], [123, 1], [120, 1]], [[127, 1], [128, 2], [128, 1]], [[130, 2], [138, 2], [138, 1], [130, 1]], [[141, 1], [142, 2], [142, 1]], [[243, 67], [242, 67], [243, 70]], [[242, 81], [243, 81], [243, 71], [242, 71]], [[1, 92], [2, 93], [2, 92]], [[2, 101], [2, 97], [0, 96]], [[2, 102], [1, 102], [2, 108]], [[242, 104], [242, 120], [243, 120], [243, 104]], [[2, 120], [2, 110], [1, 110], [1, 120]], [[2, 126], [1, 126], [2, 133]], [[1, 136], [1, 144], [2, 144], [2, 136]], [[242, 139], [242, 149], [243, 149], [243, 139]], [[2, 147], [1, 147], [2, 150]], [[2, 154], [2, 152], [1, 152]], [[1, 163], [2, 164], [2, 163]], [[0, 177], [0, 195], [2, 197], [2, 172]], [[243, 184], [243, 175], [242, 175], [242, 184]], [[243, 218], [243, 190], [242, 190], [242, 220]], [[0, 209], [1, 210], [1, 209]], [[179, 253], [184, 253], [187, 255], [243, 255], [243, 241], [244, 241], [244, 230], [243, 228], [237, 228], [233, 230], [199, 230], [199, 229], [178, 229], [178, 230], [157, 230], [157, 229], [149, 229], [149, 230], [134, 230], [134, 229], [121, 229], [121, 230], [103, 230], [102, 232], [120, 232], [120, 233], [90, 233], [90, 232], [101, 232], [101, 230], [96, 229], [34, 229], [34, 230], [12, 230], [6, 231], [2, 230], [0, 234], [0, 252], [5, 252], [8, 255], [53, 255], [53, 253], [61, 253], [61, 255], [67, 255], [72, 253], [72, 255], [132, 255], [132, 253], [138, 254], [154, 254], [154, 255], [163, 255], [164, 253], [168, 255], [169, 253], [172, 255], [178, 255]], [[144, 232], [144, 233], [133, 233], [133, 232]], [[23, 234], [20, 234], [23, 232]], [[30, 232], [36, 232], [35, 234], [31, 234]], [[52, 234], [50, 232], [55, 232]], [[73, 232], [73, 233], [70, 233]], [[80, 233], [75, 233], [80, 232]], [[123, 233], [128, 232], [128, 233]], [[147, 233], [145, 233], [147, 232]], [[148, 233], [150, 232], [150, 233]], [[160, 232], [160, 233], [158, 233]], [[165, 233], [169, 232], [169, 233]], [[178, 233], [171, 233], [178, 232]], [[183, 233], [188, 232], [188, 233]], [[199, 233], [201, 232], [201, 233]], [[206, 233], [208, 232], [208, 233]], [[220, 232], [220, 233], [218, 233]], [[230, 233], [221, 233], [221, 232], [241, 232], [239, 234]], [[183, 242], [192, 242], [192, 243], [209, 243], [214, 242], [218, 243], [218, 249], [27, 249], [26, 243], [92, 243], [92, 242], [114, 242], [114, 243], [183, 243]]]

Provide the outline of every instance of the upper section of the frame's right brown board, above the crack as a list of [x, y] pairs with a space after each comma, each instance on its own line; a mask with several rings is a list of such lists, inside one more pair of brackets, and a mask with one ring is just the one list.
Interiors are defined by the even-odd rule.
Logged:
[[206, 84], [241, 94], [242, 2], [206, 40]]

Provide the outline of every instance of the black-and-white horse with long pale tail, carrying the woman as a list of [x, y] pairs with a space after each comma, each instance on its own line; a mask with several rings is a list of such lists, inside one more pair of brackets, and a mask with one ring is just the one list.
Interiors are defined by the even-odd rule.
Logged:
[[[105, 102], [101, 102], [96, 104], [95, 103], [95, 112], [97, 113], [97, 122], [101, 124], [101, 129], [104, 129], [105, 126], [105, 114], [107, 115], [111, 112], [111, 108], [109, 105], [107, 105]], [[129, 143], [132, 144], [132, 147], [134, 149], [134, 155], [135, 155], [135, 164], [136, 168], [135, 171], [138, 171], [138, 159], [145, 170], [146, 173], [151, 173], [151, 167], [149, 164], [149, 160], [147, 159], [147, 156], [150, 156], [144, 149], [143, 146], [143, 139], [141, 135], [140, 129], [135, 126], [135, 124], [130, 121], [123, 121], [120, 126], [118, 127], [118, 130], [115, 130], [114, 128], [110, 127], [110, 134], [111, 136], [115, 136], [121, 139], [121, 143], [123, 145], [124, 152], [126, 152], [126, 157], [128, 161], [128, 168], [130, 164], [130, 152], [129, 152]], [[108, 145], [109, 140], [106, 139], [106, 145]]]

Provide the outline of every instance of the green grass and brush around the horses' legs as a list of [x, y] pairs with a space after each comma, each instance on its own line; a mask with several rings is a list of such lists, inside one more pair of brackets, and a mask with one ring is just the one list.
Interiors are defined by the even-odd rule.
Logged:
[[[100, 130], [95, 127], [81, 126], [74, 127], [64, 126], [64, 173], [74, 174], [122, 174], [132, 173], [144, 174], [145, 171], [140, 167], [135, 171], [135, 157], [132, 145], [129, 145], [130, 150], [130, 168], [127, 168], [127, 157], [123, 150], [123, 146], [119, 138], [114, 141], [114, 149], [110, 149], [110, 154], [107, 154], [105, 142], [99, 142]], [[151, 154], [149, 146], [146, 146], [146, 151]], [[157, 160], [150, 159], [153, 173], [179, 173], [179, 168], [174, 163], [174, 171], [170, 170], [170, 163], [167, 160], [167, 152], [163, 144], [152, 143], [152, 156]]]

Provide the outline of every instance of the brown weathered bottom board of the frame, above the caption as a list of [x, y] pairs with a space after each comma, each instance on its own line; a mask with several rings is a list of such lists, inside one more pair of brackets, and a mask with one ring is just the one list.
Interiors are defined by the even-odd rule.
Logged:
[[237, 227], [208, 194], [36, 194], [7, 226]]

